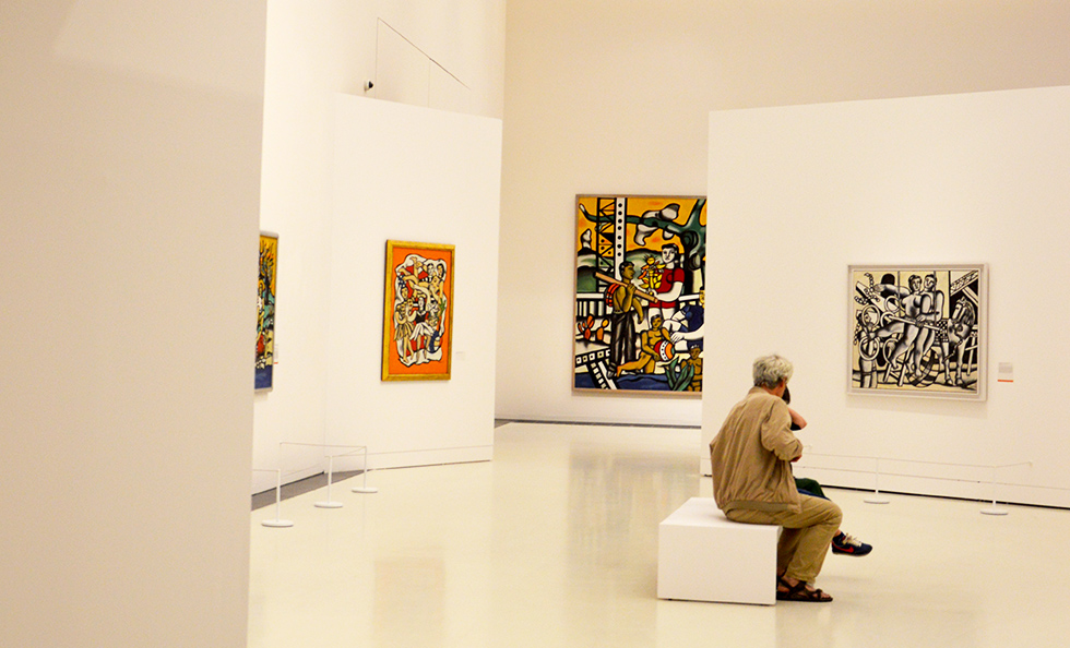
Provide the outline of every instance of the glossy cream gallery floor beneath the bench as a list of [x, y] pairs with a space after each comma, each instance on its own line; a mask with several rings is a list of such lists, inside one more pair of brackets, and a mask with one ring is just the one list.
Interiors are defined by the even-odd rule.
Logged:
[[[657, 524], [710, 496], [697, 430], [510, 423], [495, 460], [371, 472], [252, 513], [250, 648], [1070, 645], [1070, 512], [830, 490], [870, 556], [829, 604], [661, 601]], [[772, 578], [772, 575], [770, 575]]]

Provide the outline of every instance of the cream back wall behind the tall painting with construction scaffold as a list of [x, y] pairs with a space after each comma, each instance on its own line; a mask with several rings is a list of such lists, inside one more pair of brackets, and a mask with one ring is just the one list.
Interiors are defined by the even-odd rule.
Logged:
[[702, 419], [571, 391], [576, 193], [704, 194], [711, 110], [1070, 84], [1068, 33], [1054, 0], [510, 0], [498, 416]]

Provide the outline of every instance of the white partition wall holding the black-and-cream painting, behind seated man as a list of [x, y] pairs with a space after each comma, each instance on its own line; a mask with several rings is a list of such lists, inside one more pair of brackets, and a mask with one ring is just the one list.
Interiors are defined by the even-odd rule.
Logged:
[[[1070, 506], [1067, 115], [1068, 87], [711, 113], [703, 439], [780, 352], [798, 475]], [[988, 264], [987, 399], [848, 395], [848, 265], [949, 263]]]

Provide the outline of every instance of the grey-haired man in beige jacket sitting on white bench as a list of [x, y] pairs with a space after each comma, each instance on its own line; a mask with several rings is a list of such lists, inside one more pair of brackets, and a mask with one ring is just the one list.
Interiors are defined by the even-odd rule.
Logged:
[[795, 487], [790, 464], [802, 456], [802, 443], [792, 433], [797, 415], [782, 398], [792, 373], [780, 356], [754, 360], [753, 388], [710, 443], [713, 495], [730, 520], [784, 528], [776, 550], [778, 600], [823, 603], [832, 597], [812, 584], [843, 513]]

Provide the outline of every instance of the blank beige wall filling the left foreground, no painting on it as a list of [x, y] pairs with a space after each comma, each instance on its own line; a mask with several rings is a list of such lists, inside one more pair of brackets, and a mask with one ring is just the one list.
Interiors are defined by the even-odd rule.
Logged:
[[0, 3], [0, 644], [246, 645], [263, 2]]

